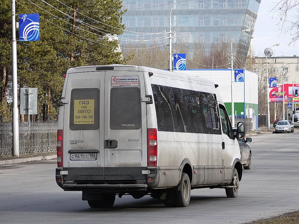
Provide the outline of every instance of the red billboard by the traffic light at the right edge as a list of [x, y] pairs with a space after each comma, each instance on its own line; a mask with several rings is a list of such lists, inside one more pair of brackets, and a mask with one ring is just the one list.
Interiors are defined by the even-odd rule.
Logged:
[[[269, 87], [269, 102], [292, 102], [294, 94], [294, 102], [299, 102], [299, 84], [294, 84], [294, 92], [292, 84], [284, 84], [284, 93], [282, 84], [277, 84], [276, 87]], [[297, 94], [297, 96], [296, 96]]]

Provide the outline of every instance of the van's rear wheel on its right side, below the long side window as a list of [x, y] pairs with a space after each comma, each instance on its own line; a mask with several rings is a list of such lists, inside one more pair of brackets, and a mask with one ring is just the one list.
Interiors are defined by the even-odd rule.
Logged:
[[175, 195], [176, 207], [187, 207], [191, 196], [191, 184], [188, 174], [182, 173], [178, 190]]

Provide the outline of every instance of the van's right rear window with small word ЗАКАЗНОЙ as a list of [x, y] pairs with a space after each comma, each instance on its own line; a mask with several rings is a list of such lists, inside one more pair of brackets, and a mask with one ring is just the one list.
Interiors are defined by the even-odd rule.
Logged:
[[111, 89], [110, 128], [141, 128], [141, 97], [138, 87], [115, 87]]

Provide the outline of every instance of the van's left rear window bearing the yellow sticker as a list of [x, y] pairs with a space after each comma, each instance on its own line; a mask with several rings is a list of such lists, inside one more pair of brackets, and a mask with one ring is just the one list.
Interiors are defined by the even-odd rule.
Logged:
[[98, 88], [72, 89], [71, 130], [96, 130], [99, 128], [99, 96]]

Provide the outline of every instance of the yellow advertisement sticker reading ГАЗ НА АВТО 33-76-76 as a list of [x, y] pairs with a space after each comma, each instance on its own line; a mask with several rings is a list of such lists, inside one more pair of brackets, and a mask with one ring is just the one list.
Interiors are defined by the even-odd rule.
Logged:
[[94, 124], [94, 99], [74, 100], [74, 124]]

